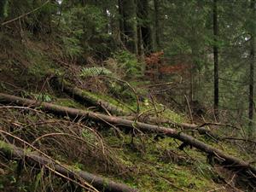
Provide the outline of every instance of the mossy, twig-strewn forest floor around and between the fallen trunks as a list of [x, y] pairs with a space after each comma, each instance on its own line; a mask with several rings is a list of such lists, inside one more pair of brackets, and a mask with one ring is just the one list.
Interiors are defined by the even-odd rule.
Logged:
[[[157, 97], [147, 97], [147, 85], [155, 82], [127, 80], [130, 86], [126, 81], [104, 75], [84, 77], [81, 75], [81, 66], [58, 59], [60, 56], [54, 45], [30, 41], [26, 42], [26, 47], [23, 49], [22, 45], [17, 45], [15, 49], [7, 48], [6, 53], [0, 55], [1, 93], [109, 114], [107, 109], [82, 104], [73, 96], [68, 96], [62, 87], [56, 89], [52, 86], [50, 79], [58, 75], [87, 91], [90, 96], [126, 112], [136, 112], [139, 102], [142, 116], [165, 117], [176, 123], [190, 121], [186, 114], [173, 108], [164, 108], [168, 103]], [[137, 92], [138, 99], [131, 87]], [[201, 121], [195, 123], [201, 124]], [[73, 120], [68, 115], [55, 116], [41, 111], [41, 108], [18, 108], [12, 103], [0, 105], [0, 126], [1, 140], [5, 142], [14, 143], [28, 151], [33, 151], [32, 147], [38, 148], [62, 165], [108, 177], [139, 191], [253, 191], [245, 186], [247, 178], [239, 177], [238, 171], [232, 172], [218, 164], [211, 165], [207, 154], [196, 148], [178, 149], [182, 143], [171, 137], [132, 133], [125, 128], [119, 129], [95, 120]], [[212, 131], [221, 136], [234, 131], [230, 126], [212, 127], [215, 128]], [[5, 135], [6, 132], [10, 135]], [[189, 131], [188, 134], [192, 135]], [[243, 141], [217, 143], [206, 135], [193, 135], [243, 160], [253, 161], [256, 158], [255, 150], [254, 154], [246, 151], [244, 148], [248, 144]], [[20, 140], [17, 141], [15, 137]], [[83, 191], [71, 181], [60, 179], [44, 168], [28, 166], [22, 160], [9, 160], [3, 154], [0, 154], [0, 190]]]

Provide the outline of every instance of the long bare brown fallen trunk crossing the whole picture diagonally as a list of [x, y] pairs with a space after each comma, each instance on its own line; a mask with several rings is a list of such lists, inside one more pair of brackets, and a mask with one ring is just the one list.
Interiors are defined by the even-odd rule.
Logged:
[[180, 140], [185, 145], [190, 145], [198, 148], [211, 157], [217, 157], [218, 160], [222, 161], [223, 165], [228, 165], [229, 167], [233, 166], [236, 167], [236, 169], [240, 168], [248, 172], [253, 172], [254, 175], [256, 174], [256, 168], [251, 166], [247, 161], [241, 160], [229, 154], [225, 154], [224, 151], [219, 150], [218, 148], [213, 148], [212, 146], [207, 145], [206, 143], [202, 143], [194, 137], [190, 137], [189, 135], [175, 129], [161, 127], [157, 125], [149, 125], [141, 122], [134, 122], [132, 120], [121, 119], [119, 117], [108, 116], [101, 113], [90, 113], [76, 108], [61, 107], [46, 102], [37, 102], [34, 100], [24, 99], [18, 96], [11, 96], [3, 93], [0, 93], [0, 102], [15, 103], [17, 105], [29, 106], [32, 108], [40, 107], [46, 111], [59, 115], [68, 115], [73, 118], [90, 118], [97, 121], [106, 121], [113, 125], [126, 126], [131, 129], [137, 128], [138, 130], [143, 132], [164, 134], [166, 137], [173, 137], [177, 140]]

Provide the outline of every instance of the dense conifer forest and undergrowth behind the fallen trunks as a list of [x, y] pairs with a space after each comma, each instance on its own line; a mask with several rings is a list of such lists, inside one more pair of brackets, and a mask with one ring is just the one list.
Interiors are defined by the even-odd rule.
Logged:
[[165, 107], [176, 121], [229, 125], [218, 134], [250, 141], [240, 147], [255, 153], [255, 4], [0, 0], [1, 91], [53, 102], [57, 75], [136, 117], [152, 104], [154, 118]]

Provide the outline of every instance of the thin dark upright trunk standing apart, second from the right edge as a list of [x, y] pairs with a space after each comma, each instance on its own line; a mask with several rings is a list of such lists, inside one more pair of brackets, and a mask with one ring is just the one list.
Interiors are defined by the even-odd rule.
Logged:
[[218, 0], [213, 0], [214, 114], [218, 120]]

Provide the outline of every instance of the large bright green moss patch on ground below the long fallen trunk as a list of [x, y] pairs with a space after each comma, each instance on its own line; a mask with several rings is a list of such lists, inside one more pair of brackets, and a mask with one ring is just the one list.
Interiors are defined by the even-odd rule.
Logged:
[[[110, 146], [120, 146], [120, 141], [116, 137], [105, 136]], [[212, 182], [214, 172], [211, 166], [207, 165], [206, 157], [195, 149], [189, 149], [188, 159], [195, 159], [195, 164], [176, 164], [170, 160], [166, 163], [160, 160], [161, 153], [166, 149], [177, 151], [179, 143], [172, 138], [165, 138], [158, 143], [152, 140], [144, 141], [146, 151], [140, 150], [142, 144], [135, 138], [134, 143], [138, 150], [129, 147], [131, 138], [124, 136], [122, 140], [122, 150], [119, 151], [119, 158], [126, 166], [136, 167], [135, 175], [123, 180], [131, 186], [143, 192], [166, 192], [166, 191], [207, 191], [218, 187]], [[183, 154], [183, 152], [178, 152]], [[198, 160], [198, 161], [197, 161]]]

